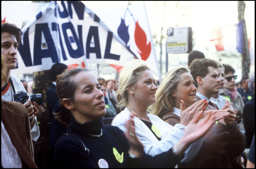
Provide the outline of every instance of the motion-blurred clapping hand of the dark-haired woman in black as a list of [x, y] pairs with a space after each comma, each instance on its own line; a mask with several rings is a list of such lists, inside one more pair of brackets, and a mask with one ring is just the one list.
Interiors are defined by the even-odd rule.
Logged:
[[136, 133], [135, 133], [135, 125], [134, 125], [134, 117], [135, 113], [131, 111], [130, 117], [128, 121], [125, 124], [125, 127], [127, 129], [127, 132], [124, 132], [124, 135], [126, 136], [127, 140], [130, 143], [130, 149], [128, 153], [131, 153], [135, 155], [137, 158], [140, 158], [144, 152], [144, 146], [139, 141]]

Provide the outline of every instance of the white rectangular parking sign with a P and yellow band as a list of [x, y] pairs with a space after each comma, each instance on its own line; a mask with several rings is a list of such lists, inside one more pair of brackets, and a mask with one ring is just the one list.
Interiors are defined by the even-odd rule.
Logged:
[[192, 50], [192, 29], [176, 27], [167, 29], [167, 53], [188, 53]]

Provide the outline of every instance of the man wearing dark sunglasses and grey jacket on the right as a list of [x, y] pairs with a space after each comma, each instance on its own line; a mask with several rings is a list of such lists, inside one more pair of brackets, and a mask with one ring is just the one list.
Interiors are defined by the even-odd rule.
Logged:
[[234, 75], [235, 70], [232, 66], [228, 64], [223, 64], [223, 66], [225, 68], [224, 88], [222, 91], [220, 91], [220, 95], [230, 100], [230, 102], [233, 103], [233, 109], [238, 110], [236, 121], [240, 127], [240, 131], [242, 133], [245, 133], [242, 115], [245, 104], [242, 99], [242, 96], [240, 95], [239, 92], [237, 92], [237, 88], [235, 86], [235, 80], [237, 79], [237, 75]]

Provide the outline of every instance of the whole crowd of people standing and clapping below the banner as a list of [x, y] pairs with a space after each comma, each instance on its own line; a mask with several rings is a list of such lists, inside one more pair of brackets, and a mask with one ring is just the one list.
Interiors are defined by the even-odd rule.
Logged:
[[[1, 29], [1, 165], [38, 168], [42, 105], [17, 100], [31, 85], [11, 73], [21, 29]], [[133, 59], [118, 81], [55, 63], [47, 89], [49, 166], [54, 168], [254, 168], [255, 75], [236, 87], [235, 69], [188, 55], [188, 67], [161, 82], [147, 62]], [[31, 84], [31, 83], [30, 83]]]

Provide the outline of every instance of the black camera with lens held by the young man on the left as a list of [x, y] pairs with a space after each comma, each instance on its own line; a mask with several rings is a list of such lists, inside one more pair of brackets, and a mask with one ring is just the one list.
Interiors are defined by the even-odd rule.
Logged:
[[44, 104], [43, 98], [41, 94], [32, 94], [28, 95], [27, 92], [17, 92], [17, 94], [13, 94], [15, 102], [20, 102], [22, 104], [26, 103], [26, 101], [30, 98], [31, 103], [36, 102], [38, 105]]

